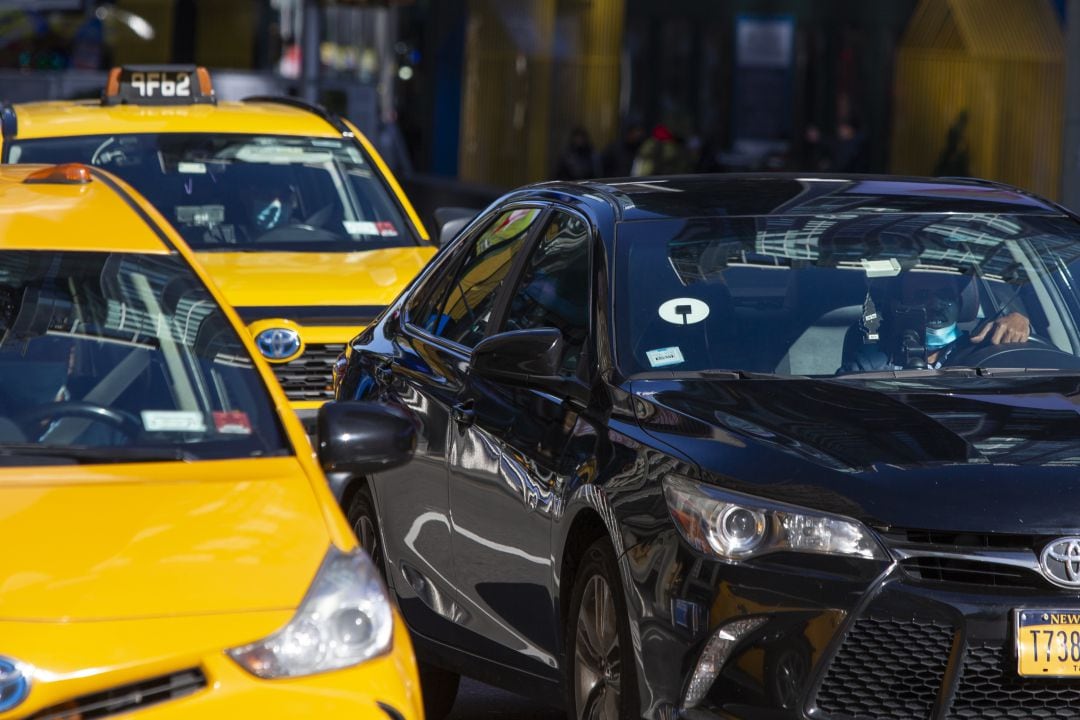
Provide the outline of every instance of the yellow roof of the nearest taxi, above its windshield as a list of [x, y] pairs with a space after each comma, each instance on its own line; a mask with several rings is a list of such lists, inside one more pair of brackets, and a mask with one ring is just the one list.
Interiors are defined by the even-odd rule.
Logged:
[[0, 249], [168, 253], [157, 212], [114, 177], [27, 182], [52, 165], [0, 165]]

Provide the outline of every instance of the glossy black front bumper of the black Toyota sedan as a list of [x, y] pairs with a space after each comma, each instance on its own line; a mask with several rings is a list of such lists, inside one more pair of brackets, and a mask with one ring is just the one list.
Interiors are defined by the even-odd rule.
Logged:
[[[1035, 574], [794, 555], [728, 566], [673, 542], [627, 553], [647, 599], [635, 619], [647, 717], [1080, 718], [1080, 678], [1016, 670], [1016, 610], [1080, 612], [1076, 593]], [[658, 582], [664, 578], [670, 583]], [[688, 706], [710, 638], [745, 617], [765, 622], [740, 638], [704, 697]]]

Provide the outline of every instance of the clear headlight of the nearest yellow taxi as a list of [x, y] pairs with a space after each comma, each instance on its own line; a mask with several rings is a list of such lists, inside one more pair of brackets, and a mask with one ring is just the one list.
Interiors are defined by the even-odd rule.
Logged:
[[390, 649], [392, 635], [390, 600], [367, 554], [330, 547], [288, 625], [228, 652], [252, 675], [288, 678], [381, 655]]

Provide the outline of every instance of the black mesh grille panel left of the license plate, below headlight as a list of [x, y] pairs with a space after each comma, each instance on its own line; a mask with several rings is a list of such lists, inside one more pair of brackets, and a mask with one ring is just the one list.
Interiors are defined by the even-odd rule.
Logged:
[[861, 719], [930, 717], [954, 634], [934, 622], [858, 621], [818, 690], [818, 707]]

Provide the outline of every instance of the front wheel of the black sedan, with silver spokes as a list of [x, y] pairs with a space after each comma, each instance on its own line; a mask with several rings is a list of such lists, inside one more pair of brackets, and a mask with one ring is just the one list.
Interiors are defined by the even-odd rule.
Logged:
[[593, 543], [581, 558], [567, 621], [568, 717], [640, 718], [630, 615], [607, 539]]

